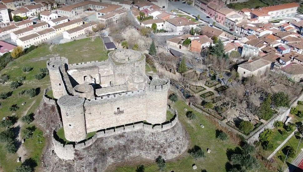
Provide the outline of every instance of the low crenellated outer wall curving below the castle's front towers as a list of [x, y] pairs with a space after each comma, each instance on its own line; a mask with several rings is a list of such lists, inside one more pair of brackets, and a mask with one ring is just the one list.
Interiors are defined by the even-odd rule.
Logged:
[[[109, 129], [103, 129], [98, 131], [91, 139], [85, 140], [82, 143], [78, 143], [78, 144], [62, 144], [58, 140], [56, 140], [54, 135], [52, 134], [52, 142], [54, 145], [54, 151], [60, 159], [71, 160], [74, 159], [75, 157], [74, 155], [75, 150], [84, 149], [92, 145], [98, 138], [122, 134], [124, 132], [136, 131], [140, 129], [150, 132], [161, 132], [167, 129], [171, 129], [176, 125], [177, 122], [178, 122], [178, 113], [175, 110], [174, 117], [171, 120], [161, 124], [149, 124], [140, 121], [136, 123], [112, 127]], [[58, 129], [54, 129], [54, 131], [57, 130]]]

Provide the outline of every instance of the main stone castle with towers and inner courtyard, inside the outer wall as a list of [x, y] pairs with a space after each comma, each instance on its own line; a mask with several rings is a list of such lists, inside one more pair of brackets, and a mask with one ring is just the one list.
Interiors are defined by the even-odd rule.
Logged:
[[137, 121], [166, 120], [169, 80], [145, 75], [145, 55], [117, 50], [102, 62], [47, 61], [53, 97], [61, 110], [65, 138], [79, 142], [87, 133]]

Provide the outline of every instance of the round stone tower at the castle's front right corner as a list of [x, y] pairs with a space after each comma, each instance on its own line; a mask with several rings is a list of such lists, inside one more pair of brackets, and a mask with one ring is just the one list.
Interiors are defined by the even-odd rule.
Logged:
[[166, 121], [167, 91], [169, 80], [154, 76], [147, 85], [146, 121], [151, 124], [161, 124]]

